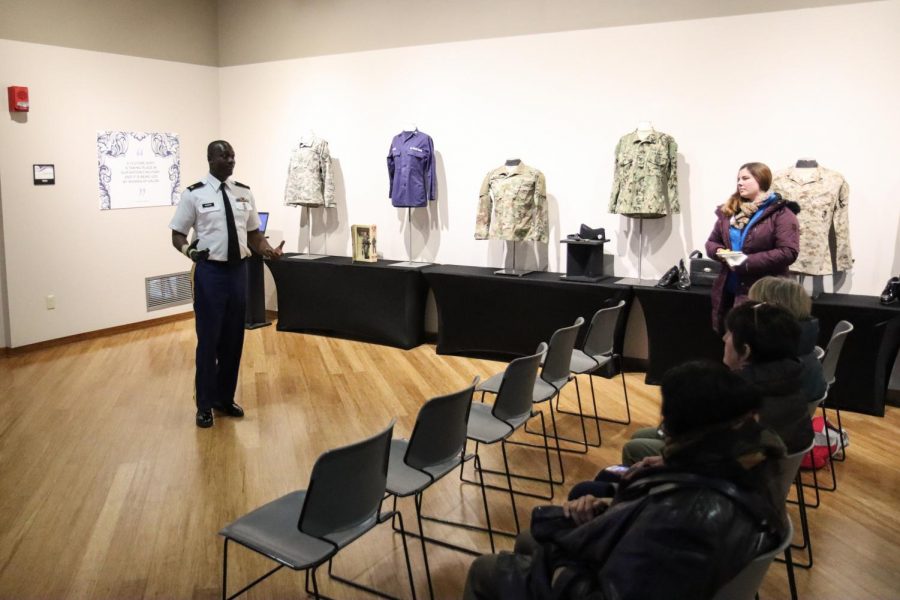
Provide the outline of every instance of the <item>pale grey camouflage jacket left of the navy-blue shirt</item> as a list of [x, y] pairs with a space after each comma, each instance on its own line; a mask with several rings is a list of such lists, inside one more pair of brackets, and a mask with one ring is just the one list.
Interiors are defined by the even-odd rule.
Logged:
[[300, 140], [291, 153], [284, 203], [286, 206], [335, 205], [328, 142], [317, 137]]

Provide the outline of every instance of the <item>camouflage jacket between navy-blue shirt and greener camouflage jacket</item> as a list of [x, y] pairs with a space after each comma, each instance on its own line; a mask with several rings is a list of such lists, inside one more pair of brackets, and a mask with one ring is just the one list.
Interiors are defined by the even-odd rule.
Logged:
[[547, 242], [544, 174], [525, 163], [488, 173], [478, 196], [475, 239]]

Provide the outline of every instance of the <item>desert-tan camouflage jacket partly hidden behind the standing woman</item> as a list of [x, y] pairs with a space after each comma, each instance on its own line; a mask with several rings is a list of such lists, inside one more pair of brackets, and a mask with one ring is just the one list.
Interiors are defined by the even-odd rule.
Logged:
[[[772, 190], [802, 209], [800, 255], [791, 271], [808, 275], [831, 275], [853, 267], [850, 253], [850, 188], [844, 177], [829, 169], [791, 167], [775, 174]], [[835, 233], [834, 263], [829, 234]]]

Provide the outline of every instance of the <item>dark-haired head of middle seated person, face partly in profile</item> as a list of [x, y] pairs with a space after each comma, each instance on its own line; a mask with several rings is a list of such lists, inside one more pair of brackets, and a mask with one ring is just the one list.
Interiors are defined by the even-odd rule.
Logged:
[[793, 358], [800, 340], [800, 324], [788, 311], [773, 304], [745, 302], [725, 317], [725, 354], [730, 369], [748, 364]]

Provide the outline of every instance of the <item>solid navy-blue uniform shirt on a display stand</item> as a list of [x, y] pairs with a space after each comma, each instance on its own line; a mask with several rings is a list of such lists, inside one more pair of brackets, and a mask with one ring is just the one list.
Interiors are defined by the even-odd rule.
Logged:
[[434, 142], [418, 129], [401, 131], [388, 152], [391, 204], [402, 208], [425, 206], [435, 199]]

